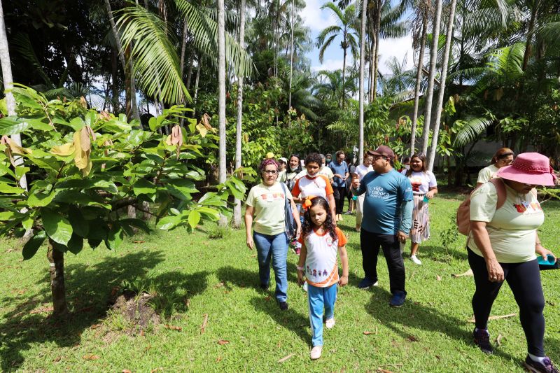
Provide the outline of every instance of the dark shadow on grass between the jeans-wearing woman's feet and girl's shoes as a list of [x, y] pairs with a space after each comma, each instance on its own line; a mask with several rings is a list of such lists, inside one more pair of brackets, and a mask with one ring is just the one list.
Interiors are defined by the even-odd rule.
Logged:
[[311, 346], [311, 335], [309, 334], [309, 318], [290, 308], [286, 311], [279, 309], [274, 298], [254, 297], [251, 304], [256, 311], [265, 312], [276, 321], [278, 325], [293, 332], [300, 337], [303, 342]]

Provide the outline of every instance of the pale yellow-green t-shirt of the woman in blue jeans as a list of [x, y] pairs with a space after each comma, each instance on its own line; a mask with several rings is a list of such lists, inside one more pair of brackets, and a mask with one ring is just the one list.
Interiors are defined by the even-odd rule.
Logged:
[[[292, 199], [288, 188], [286, 188], [286, 192], [288, 199]], [[247, 196], [247, 205], [255, 209], [253, 218], [255, 232], [274, 236], [286, 231], [284, 199], [282, 185], [278, 182], [272, 186], [260, 183], [251, 188]]]

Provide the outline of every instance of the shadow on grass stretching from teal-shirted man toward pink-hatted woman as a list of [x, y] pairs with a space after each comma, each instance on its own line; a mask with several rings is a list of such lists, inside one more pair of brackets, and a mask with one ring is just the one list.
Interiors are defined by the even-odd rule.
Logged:
[[[442, 333], [457, 341], [471, 344], [472, 351], [482, 353], [472, 342], [471, 328], [473, 324], [468, 323], [468, 321], [441, 314], [437, 309], [414, 302], [410, 298], [407, 298], [401, 308], [393, 309], [388, 305], [391, 293], [379, 287], [372, 287], [372, 293], [369, 304], [365, 305], [367, 313], [403, 339], [416, 340], [416, 337], [411, 337], [411, 333], [406, 330], [407, 328], [416, 328], [427, 332]], [[494, 349], [494, 355], [505, 360], [519, 360], [500, 351], [499, 347]]]

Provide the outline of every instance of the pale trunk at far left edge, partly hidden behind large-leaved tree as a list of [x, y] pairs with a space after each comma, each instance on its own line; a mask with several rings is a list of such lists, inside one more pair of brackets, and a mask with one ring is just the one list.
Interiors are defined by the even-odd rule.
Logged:
[[[8, 108], [8, 115], [16, 115], [15, 113], [15, 98], [13, 97], [13, 77], [12, 65], [10, 62], [10, 50], [8, 49], [8, 36], [6, 35], [6, 23], [4, 22], [4, 12], [2, 2], [0, 1], [0, 64], [2, 66], [2, 78], [4, 83], [4, 92], [6, 92], [6, 106]], [[10, 136], [15, 143], [22, 146], [22, 138], [20, 134], [13, 134]], [[23, 164], [21, 156], [14, 157], [15, 164]], [[23, 175], [20, 178], [20, 187], [27, 190], [27, 178]]]

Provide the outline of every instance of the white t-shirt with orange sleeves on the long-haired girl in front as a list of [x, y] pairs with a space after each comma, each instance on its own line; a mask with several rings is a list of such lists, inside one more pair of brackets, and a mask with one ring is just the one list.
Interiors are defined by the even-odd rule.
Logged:
[[338, 282], [337, 251], [346, 245], [346, 236], [335, 228], [336, 239], [330, 233], [317, 234], [314, 230], [299, 241], [307, 248], [305, 257], [305, 279], [309, 285], [327, 288]]

